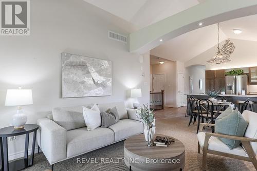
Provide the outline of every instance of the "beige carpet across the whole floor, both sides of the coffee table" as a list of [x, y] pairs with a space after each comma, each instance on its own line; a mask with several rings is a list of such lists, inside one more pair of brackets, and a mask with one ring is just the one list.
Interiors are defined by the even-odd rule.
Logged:
[[[197, 136], [196, 125], [188, 127], [189, 117], [185, 118], [185, 107], [182, 108], [166, 108], [156, 111], [156, 133], [165, 134], [179, 139], [186, 147], [186, 165], [184, 170], [197, 171], [201, 170], [202, 154], [197, 153]], [[118, 142], [107, 147], [91, 151], [90, 153], [79, 156], [78, 158], [123, 158], [123, 142]], [[34, 165], [25, 169], [26, 171], [42, 171], [50, 169], [43, 153], [36, 154]], [[57, 163], [54, 165], [55, 170], [129, 170], [126, 165], [120, 163], [77, 163], [77, 157]], [[255, 170], [252, 163], [240, 160], [207, 155], [207, 170], [223, 171], [223, 170]]]

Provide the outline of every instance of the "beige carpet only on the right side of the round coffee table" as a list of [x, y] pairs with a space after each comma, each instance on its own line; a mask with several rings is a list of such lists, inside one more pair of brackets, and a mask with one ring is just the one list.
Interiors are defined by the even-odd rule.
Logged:
[[[166, 108], [158, 110], [156, 133], [179, 139], [186, 147], [186, 166], [184, 170], [201, 170], [201, 154], [197, 153], [197, 124], [188, 127], [189, 117], [185, 118], [186, 108]], [[255, 170], [252, 163], [207, 154], [207, 170]]]

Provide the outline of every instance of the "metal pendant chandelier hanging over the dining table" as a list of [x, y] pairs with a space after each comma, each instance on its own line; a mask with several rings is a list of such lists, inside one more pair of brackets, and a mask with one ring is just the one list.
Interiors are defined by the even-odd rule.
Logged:
[[[217, 24], [218, 25], [218, 24]], [[230, 40], [226, 40], [226, 43], [222, 46], [222, 49], [219, 48], [219, 27], [218, 27], [218, 51], [216, 56], [211, 58], [208, 63], [221, 64], [225, 62], [230, 62], [230, 54], [234, 52], [235, 46], [234, 43], [230, 42]]]

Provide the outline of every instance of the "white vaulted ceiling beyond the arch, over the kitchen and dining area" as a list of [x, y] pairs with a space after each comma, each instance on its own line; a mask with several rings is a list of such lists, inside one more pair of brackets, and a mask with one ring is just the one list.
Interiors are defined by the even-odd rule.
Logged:
[[[220, 42], [228, 38], [257, 41], [257, 15], [236, 18], [219, 23], [219, 28]], [[243, 32], [241, 34], [235, 34], [233, 29], [242, 29]], [[217, 25], [214, 24], [179, 35], [152, 49], [150, 53], [172, 61], [187, 62], [216, 45]], [[212, 57], [213, 56], [209, 56], [209, 58]]]

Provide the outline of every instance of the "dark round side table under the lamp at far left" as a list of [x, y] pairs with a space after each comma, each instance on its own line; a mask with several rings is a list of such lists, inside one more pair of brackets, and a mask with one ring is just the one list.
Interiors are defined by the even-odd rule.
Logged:
[[[23, 129], [13, 129], [13, 126], [5, 127], [0, 129], [0, 171], [16, 171], [21, 170], [26, 167], [30, 167], [33, 165], [34, 160], [34, 152], [35, 152], [35, 138], [36, 138], [36, 130], [39, 129], [38, 125], [35, 124], [26, 124]], [[29, 149], [29, 133], [34, 132], [33, 134], [33, 142], [32, 142], [32, 150], [31, 155], [28, 156]], [[25, 152], [24, 158], [20, 160], [15, 160], [12, 162], [8, 162], [8, 137], [26, 135], [25, 138]]]

